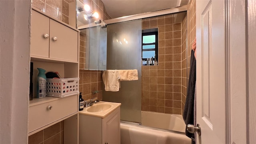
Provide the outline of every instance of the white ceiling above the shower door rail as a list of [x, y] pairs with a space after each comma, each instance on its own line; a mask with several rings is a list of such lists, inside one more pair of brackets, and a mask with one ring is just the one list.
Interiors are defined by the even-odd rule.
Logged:
[[102, 0], [111, 18], [153, 12], [188, 4], [189, 0]]

